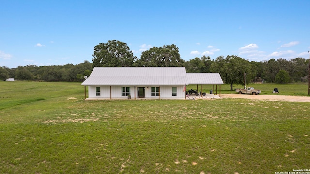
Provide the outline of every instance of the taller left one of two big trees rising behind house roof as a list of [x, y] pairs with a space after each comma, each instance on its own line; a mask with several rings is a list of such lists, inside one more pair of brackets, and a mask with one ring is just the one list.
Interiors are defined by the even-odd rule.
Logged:
[[135, 59], [126, 43], [110, 40], [94, 47], [93, 67], [128, 67]]

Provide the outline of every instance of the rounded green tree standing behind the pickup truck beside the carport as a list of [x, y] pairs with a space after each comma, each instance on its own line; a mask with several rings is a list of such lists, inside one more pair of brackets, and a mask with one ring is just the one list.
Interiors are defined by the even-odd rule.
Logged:
[[238, 56], [217, 57], [215, 63], [211, 66], [212, 72], [220, 73], [225, 84], [230, 84], [233, 91], [233, 84], [244, 85], [244, 73], [246, 73], [246, 84], [251, 82], [255, 73], [248, 60]]

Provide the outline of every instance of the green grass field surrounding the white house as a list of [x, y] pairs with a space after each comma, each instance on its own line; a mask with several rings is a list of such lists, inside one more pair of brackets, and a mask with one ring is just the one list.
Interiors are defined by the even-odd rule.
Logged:
[[[257, 88], [270, 95], [275, 87], [279, 95], [307, 95], [308, 89]], [[222, 85], [222, 93], [232, 92]], [[307, 102], [83, 98], [80, 83], [0, 82], [0, 173], [274, 174], [310, 168]]]

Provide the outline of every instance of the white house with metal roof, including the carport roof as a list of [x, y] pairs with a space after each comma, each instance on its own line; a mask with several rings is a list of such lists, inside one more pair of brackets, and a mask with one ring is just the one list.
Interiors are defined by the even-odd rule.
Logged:
[[88, 86], [87, 100], [185, 99], [187, 84], [223, 81], [219, 73], [186, 73], [185, 67], [95, 67], [82, 83]]

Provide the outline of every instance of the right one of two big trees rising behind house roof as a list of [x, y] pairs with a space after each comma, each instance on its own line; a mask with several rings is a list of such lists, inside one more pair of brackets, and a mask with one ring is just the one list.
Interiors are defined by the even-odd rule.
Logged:
[[164, 45], [162, 47], [152, 47], [142, 52], [141, 58], [136, 61], [136, 66], [183, 66], [184, 60], [181, 59], [179, 48], [172, 45]]

